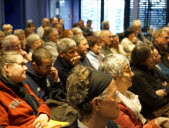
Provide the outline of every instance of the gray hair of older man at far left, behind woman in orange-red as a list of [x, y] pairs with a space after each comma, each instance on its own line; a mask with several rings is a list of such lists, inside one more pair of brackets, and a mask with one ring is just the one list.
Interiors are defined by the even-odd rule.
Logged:
[[12, 40], [19, 40], [19, 39], [15, 35], [8, 35], [5, 37], [4, 41], [2, 42], [2, 47], [7, 48], [7, 47], [11, 46]]

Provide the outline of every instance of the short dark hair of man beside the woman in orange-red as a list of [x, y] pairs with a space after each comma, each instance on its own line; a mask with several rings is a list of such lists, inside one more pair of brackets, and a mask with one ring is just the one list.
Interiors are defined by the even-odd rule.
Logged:
[[32, 53], [32, 62], [35, 62], [37, 65], [42, 64], [42, 59], [52, 59], [52, 54], [46, 48], [40, 47], [33, 51]]

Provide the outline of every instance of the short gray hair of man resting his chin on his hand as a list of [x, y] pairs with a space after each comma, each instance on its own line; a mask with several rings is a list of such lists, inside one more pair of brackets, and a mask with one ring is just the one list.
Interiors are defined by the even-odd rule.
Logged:
[[57, 42], [58, 52], [66, 52], [67, 50], [76, 47], [76, 42], [70, 38], [63, 38]]

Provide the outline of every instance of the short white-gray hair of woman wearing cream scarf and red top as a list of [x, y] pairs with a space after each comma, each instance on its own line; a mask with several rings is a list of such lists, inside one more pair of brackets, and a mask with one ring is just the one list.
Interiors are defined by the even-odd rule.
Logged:
[[122, 70], [127, 65], [130, 65], [130, 63], [126, 56], [121, 54], [110, 54], [103, 58], [98, 70], [107, 72], [113, 76], [121, 76]]

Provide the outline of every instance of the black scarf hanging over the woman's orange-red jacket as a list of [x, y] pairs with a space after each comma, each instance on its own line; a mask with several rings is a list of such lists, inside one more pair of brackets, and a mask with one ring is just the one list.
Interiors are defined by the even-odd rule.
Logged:
[[34, 96], [27, 93], [26, 88], [24, 87], [23, 83], [14, 83], [7, 78], [5, 78], [0, 73], [0, 81], [2, 81], [3, 84], [5, 84], [7, 87], [9, 87], [15, 94], [17, 94], [20, 98], [22, 98], [24, 101], [26, 101], [27, 104], [29, 104], [33, 109], [33, 114], [37, 114], [37, 109], [39, 106], [38, 101], [35, 99]]

